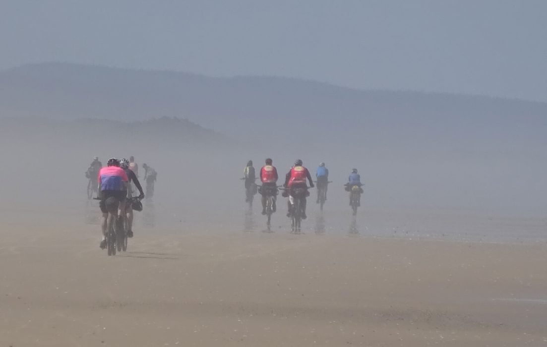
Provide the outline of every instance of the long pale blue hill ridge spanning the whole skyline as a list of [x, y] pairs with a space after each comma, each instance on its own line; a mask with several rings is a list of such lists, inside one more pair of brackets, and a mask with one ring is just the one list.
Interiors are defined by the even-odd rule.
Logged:
[[544, 146], [547, 130], [547, 103], [66, 63], [0, 72], [0, 115], [184, 117], [249, 140], [266, 134], [278, 142], [395, 150]]

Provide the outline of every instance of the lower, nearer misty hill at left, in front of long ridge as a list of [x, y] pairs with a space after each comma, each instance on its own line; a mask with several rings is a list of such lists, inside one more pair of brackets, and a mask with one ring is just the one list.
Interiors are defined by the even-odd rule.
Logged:
[[42, 148], [117, 148], [121, 143], [124, 147], [148, 149], [207, 149], [236, 144], [186, 119], [169, 117], [131, 122], [8, 117], [0, 119], [0, 143]]

